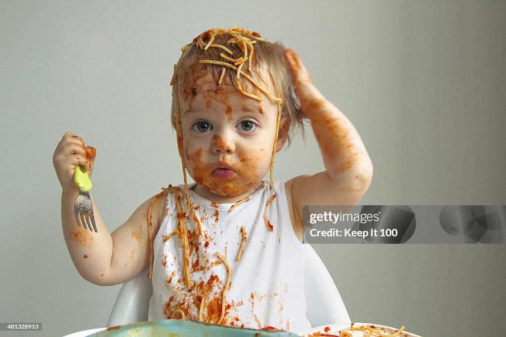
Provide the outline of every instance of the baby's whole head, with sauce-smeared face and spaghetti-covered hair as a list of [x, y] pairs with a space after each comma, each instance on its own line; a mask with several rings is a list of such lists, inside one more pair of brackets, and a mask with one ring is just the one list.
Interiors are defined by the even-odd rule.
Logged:
[[173, 126], [183, 167], [206, 190], [255, 188], [290, 128], [303, 129], [284, 50], [240, 28], [208, 30], [183, 47], [171, 81]]

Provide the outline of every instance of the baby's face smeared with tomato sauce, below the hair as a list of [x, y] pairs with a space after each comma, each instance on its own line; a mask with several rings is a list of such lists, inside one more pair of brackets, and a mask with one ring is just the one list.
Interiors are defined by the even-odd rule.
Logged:
[[260, 186], [271, 163], [278, 111], [277, 102], [263, 93], [262, 98], [249, 98], [231, 85], [217, 91], [209, 73], [184, 83], [179, 94], [183, 156], [199, 185], [197, 194], [239, 200]]

